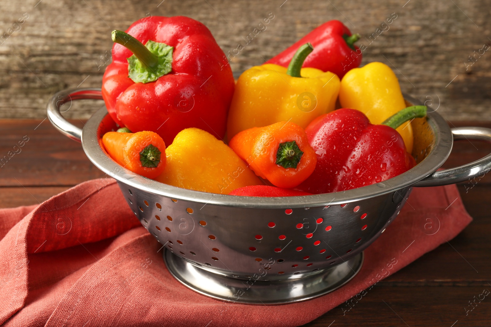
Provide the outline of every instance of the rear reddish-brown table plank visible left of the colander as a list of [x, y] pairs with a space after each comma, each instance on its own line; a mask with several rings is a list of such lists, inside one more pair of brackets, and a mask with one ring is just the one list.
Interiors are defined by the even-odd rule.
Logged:
[[[83, 126], [80, 120], [72, 123]], [[28, 141], [19, 147], [25, 137]], [[0, 186], [73, 186], [104, 176], [82, 145], [61, 135], [48, 120], [2, 120], [0, 140]]]

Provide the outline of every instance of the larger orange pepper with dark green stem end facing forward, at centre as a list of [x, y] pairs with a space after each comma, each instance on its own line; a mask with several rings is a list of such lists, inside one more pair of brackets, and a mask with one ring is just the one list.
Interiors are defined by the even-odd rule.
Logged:
[[228, 145], [257, 176], [282, 188], [299, 185], [312, 174], [317, 162], [307, 135], [291, 122], [246, 129]]

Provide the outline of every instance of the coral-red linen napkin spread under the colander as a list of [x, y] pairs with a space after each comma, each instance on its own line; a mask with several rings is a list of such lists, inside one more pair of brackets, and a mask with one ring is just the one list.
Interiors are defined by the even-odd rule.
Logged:
[[161, 245], [117, 184], [104, 186], [91, 180], [40, 205], [0, 210], [4, 326], [298, 326], [455, 237], [472, 220], [455, 185], [415, 188], [347, 285], [305, 302], [244, 305], [207, 298], [175, 280]]

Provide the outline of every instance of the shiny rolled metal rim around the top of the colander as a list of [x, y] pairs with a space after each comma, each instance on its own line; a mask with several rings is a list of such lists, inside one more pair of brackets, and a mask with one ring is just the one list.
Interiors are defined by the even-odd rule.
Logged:
[[[408, 95], [404, 95], [404, 98], [412, 104], [421, 104], [421, 101]], [[318, 207], [362, 201], [396, 192], [402, 188], [409, 187], [434, 173], [450, 155], [453, 144], [452, 132], [445, 120], [435, 111], [428, 112], [427, 122], [433, 129], [436, 138], [433, 149], [431, 149], [426, 158], [419, 164], [401, 175], [384, 180], [380, 183], [335, 193], [298, 197], [243, 197], [193, 191], [171, 186], [136, 175], [121, 167], [102, 150], [98, 136], [94, 133], [94, 131], [99, 130], [99, 126], [106, 115], [108, 115], [106, 106], [102, 106], [86, 122], [82, 129], [82, 148], [89, 160], [108, 176], [130, 187], [174, 200], [235, 207], [264, 209]]]

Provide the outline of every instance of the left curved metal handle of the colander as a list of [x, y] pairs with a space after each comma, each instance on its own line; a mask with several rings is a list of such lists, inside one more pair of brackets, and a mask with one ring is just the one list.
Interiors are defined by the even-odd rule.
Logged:
[[56, 127], [62, 134], [68, 136], [72, 140], [82, 142], [82, 128], [79, 128], [69, 121], [67, 121], [61, 115], [62, 112], [68, 111], [62, 110], [64, 103], [81, 99], [97, 99], [102, 100], [101, 89], [97, 88], [85, 88], [85, 89], [67, 89], [56, 93], [51, 97], [48, 105], [46, 106], [46, 115], [51, 124]]

